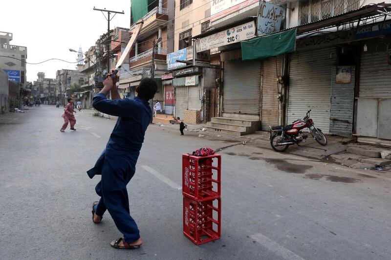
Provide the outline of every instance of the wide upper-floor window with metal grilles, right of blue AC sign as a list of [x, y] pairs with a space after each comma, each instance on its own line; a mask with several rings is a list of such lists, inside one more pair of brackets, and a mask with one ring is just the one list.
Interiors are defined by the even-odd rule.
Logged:
[[304, 0], [299, 6], [299, 24], [327, 19], [358, 8], [358, 0]]

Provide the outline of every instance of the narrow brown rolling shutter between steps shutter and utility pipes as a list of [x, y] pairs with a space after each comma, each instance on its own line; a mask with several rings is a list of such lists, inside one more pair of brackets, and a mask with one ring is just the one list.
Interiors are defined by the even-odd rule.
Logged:
[[261, 127], [262, 130], [268, 130], [269, 125], [278, 124], [277, 74], [281, 75], [281, 58], [264, 60], [262, 69]]

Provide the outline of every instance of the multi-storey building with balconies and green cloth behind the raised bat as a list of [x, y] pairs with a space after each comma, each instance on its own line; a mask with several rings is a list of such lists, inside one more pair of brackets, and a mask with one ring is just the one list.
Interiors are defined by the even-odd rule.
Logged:
[[161, 101], [161, 77], [167, 70], [167, 53], [172, 52], [174, 46], [174, 1], [141, 0], [138, 4], [131, 5], [130, 34], [134, 32], [135, 23], [140, 19], [144, 20], [143, 28], [130, 53], [129, 71], [121, 72], [119, 88], [123, 89], [126, 97], [133, 97], [140, 80], [151, 76], [154, 57], [154, 79], [158, 82], [155, 99]]

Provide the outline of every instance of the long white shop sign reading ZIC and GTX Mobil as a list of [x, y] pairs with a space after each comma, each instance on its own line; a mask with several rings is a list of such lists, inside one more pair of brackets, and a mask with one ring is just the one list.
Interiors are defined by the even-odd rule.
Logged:
[[231, 27], [227, 30], [196, 40], [195, 50], [196, 52], [201, 52], [250, 39], [255, 36], [255, 30], [254, 21]]

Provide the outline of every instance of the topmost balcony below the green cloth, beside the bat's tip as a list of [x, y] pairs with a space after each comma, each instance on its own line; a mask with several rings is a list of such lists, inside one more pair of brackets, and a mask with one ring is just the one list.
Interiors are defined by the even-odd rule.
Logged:
[[[154, 33], [154, 29], [156, 29], [159, 26], [167, 26], [168, 21], [168, 9], [167, 8], [159, 8], [155, 7], [150, 11], [148, 14], [146, 14], [143, 18], [144, 24], [143, 28], [140, 31], [140, 35], [146, 34], [147, 32], [149, 34]], [[134, 28], [136, 27], [136, 24], [133, 23], [130, 26], [130, 33], [134, 31]]]

